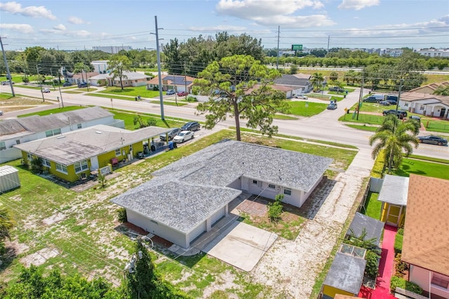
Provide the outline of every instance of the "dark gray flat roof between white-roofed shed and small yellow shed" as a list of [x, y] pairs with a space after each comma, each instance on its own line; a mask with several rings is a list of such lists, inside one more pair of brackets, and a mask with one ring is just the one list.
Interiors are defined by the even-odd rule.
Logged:
[[349, 225], [349, 229], [346, 233], [346, 237], [350, 237], [352, 234], [356, 237], [360, 237], [365, 232], [364, 240], [375, 239], [375, 244], [379, 246], [380, 238], [384, 230], [385, 223], [377, 219], [368, 217], [361, 213], [356, 213], [354, 219]]

